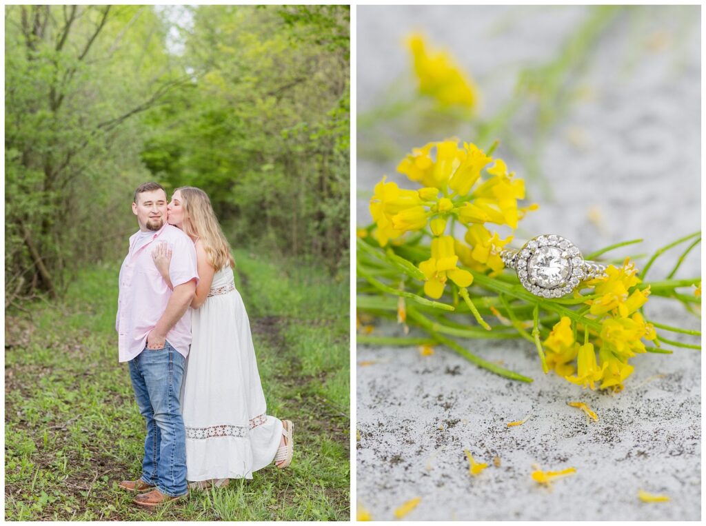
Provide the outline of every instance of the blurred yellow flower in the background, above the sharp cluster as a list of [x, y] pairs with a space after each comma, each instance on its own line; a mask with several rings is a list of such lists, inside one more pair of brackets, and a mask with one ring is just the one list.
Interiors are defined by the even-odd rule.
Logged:
[[450, 54], [428, 52], [421, 35], [409, 37], [408, 44], [422, 95], [434, 97], [442, 106], [475, 107], [477, 88]]

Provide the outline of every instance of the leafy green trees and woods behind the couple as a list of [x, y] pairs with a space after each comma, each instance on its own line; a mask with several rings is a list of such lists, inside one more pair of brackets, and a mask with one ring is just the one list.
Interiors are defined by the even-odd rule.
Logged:
[[205, 190], [236, 246], [347, 266], [347, 6], [5, 18], [6, 306], [124, 254], [148, 180]]

